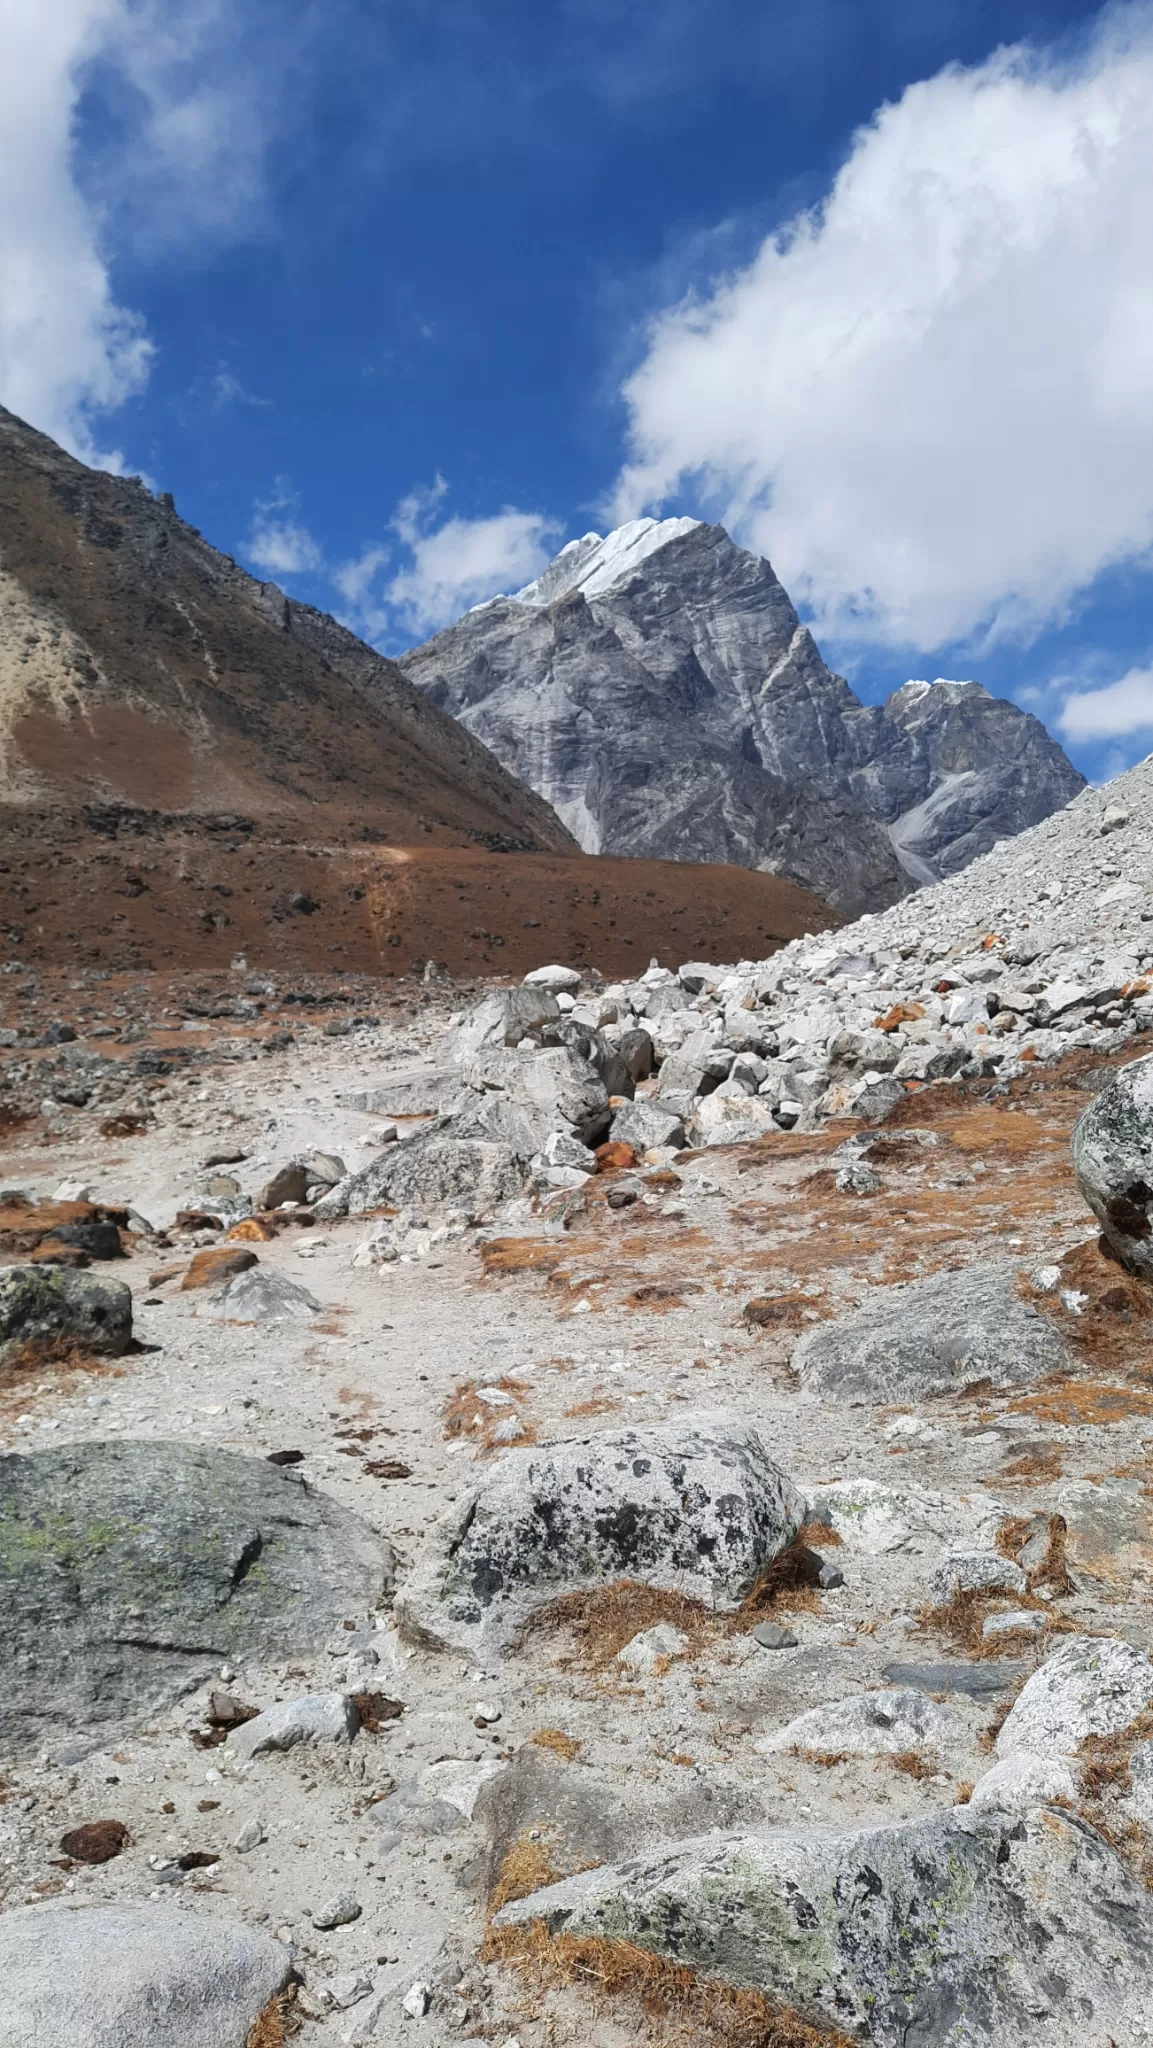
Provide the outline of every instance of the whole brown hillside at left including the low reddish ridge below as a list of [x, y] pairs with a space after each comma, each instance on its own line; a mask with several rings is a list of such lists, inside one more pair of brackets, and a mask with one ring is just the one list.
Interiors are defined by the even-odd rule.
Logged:
[[827, 922], [748, 868], [582, 856], [393, 662], [0, 410], [0, 956], [616, 975]]

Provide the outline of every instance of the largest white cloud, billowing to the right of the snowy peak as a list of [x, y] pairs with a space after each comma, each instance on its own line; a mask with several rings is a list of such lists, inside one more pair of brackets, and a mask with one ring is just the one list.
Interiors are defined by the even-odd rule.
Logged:
[[1153, 8], [909, 86], [823, 207], [666, 311], [616, 516], [694, 483], [821, 631], [1067, 616], [1153, 545]]

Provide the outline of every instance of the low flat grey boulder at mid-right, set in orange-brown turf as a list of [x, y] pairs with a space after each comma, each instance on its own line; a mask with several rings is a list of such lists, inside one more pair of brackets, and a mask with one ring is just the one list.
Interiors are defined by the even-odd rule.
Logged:
[[1010, 1264], [879, 1288], [793, 1354], [805, 1386], [834, 1401], [920, 1401], [985, 1378], [1016, 1386], [1069, 1364], [1053, 1325], [1020, 1298]]

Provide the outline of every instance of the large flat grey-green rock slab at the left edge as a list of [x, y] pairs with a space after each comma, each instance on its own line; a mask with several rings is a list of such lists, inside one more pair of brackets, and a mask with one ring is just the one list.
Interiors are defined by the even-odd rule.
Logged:
[[141, 1720], [223, 1659], [319, 1647], [393, 1552], [299, 1473], [195, 1444], [0, 1458], [0, 1753]]

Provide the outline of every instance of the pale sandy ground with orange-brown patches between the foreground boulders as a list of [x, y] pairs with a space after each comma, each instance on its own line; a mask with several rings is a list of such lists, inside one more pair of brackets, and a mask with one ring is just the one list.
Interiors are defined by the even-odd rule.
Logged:
[[[309, 1145], [360, 1161], [369, 1153], [360, 1141], [379, 1118], [340, 1098], [434, 1055], [451, 1001], [444, 991], [420, 1014], [350, 1038], [309, 1030], [260, 1063], [209, 1061], [154, 1098], [156, 1122], [133, 1139], [98, 1137], [94, 1112], [57, 1116], [51, 1130], [31, 1122], [10, 1135], [0, 1178], [51, 1194], [76, 1176], [98, 1200], [129, 1202], [162, 1227], [195, 1200], [201, 1161], [217, 1149], [250, 1153], [233, 1169], [246, 1190]], [[938, 1143], [883, 1149], [883, 1188], [870, 1198], [831, 1188], [829, 1155], [844, 1126], [698, 1153], [676, 1174], [627, 1176], [639, 1200], [623, 1210], [606, 1206], [608, 1182], [598, 1178], [569, 1227], [561, 1208], [526, 1214], [383, 1270], [352, 1266], [362, 1221], [287, 1227], [256, 1247], [260, 1264], [315, 1294], [324, 1305], [315, 1325], [221, 1323], [205, 1294], [172, 1282], [150, 1288], [150, 1274], [172, 1257], [143, 1247], [109, 1268], [133, 1286], [143, 1350], [100, 1372], [4, 1389], [0, 1444], [25, 1452], [166, 1438], [252, 1456], [299, 1448], [305, 1477], [387, 1534], [401, 1565], [489, 1456], [477, 1432], [449, 1434], [446, 1409], [463, 1386], [498, 1382], [508, 1399], [487, 1415], [514, 1413], [539, 1442], [729, 1407], [807, 1485], [866, 1475], [932, 1489], [952, 1503], [942, 1522], [952, 1530], [975, 1528], [989, 1507], [1049, 1511], [1083, 1475], [1102, 1487], [1145, 1477], [1153, 1434], [1145, 1327], [1126, 1327], [1118, 1341], [1104, 1313], [1081, 1317], [1079, 1329], [1065, 1317], [1081, 1343], [1075, 1380], [1016, 1399], [973, 1393], [909, 1409], [920, 1427], [893, 1409], [827, 1409], [803, 1397], [788, 1354], [799, 1329], [881, 1280], [1006, 1253], [1022, 1270], [1071, 1253], [1087, 1270], [1092, 1219], [1067, 1167], [1067, 1133], [1085, 1100], [1073, 1073], [1040, 1075], [995, 1102], [928, 1090], [917, 1118]], [[782, 1321], [745, 1319], [750, 1300], [782, 1296]], [[465, 1409], [477, 1413], [477, 1403]], [[373, 1477], [369, 1464], [381, 1458], [399, 1460], [410, 1477]], [[1147, 1645], [1153, 1536], [1143, 1526], [1124, 1559], [1073, 1571], [1073, 1593], [1055, 1604], [1063, 1620]], [[178, 1894], [188, 1909], [285, 1931], [305, 1980], [303, 2009], [315, 2015], [305, 2040], [317, 2048], [442, 2048], [459, 2038], [621, 2048], [639, 2038], [629, 2007], [596, 2007], [571, 1991], [528, 1995], [514, 1974], [477, 1960], [508, 1847], [504, 1823], [483, 1819], [485, 1800], [455, 1831], [391, 1839], [381, 1798], [444, 1761], [528, 1772], [530, 1786], [541, 1765], [553, 1792], [526, 1796], [541, 1800], [528, 1835], [543, 1853], [561, 1782], [563, 1798], [614, 1817], [629, 1847], [739, 1821], [840, 1825], [948, 1806], [987, 1765], [981, 1731], [995, 1698], [958, 1700], [954, 1739], [913, 1767], [758, 1751], [803, 1708], [883, 1683], [893, 1659], [956, 1655], [917, 1620], [940, 1550], [942, 1536], [930, 1530], [913, 1530], [889, 1554], [829, 1548], [844, 1587], [782, 1597], [778, 1618], [795, 1630], [795, 1649], [760, 1649], [750, 1632], [758, 1616], [731, 1628], [702, 1624], [688, 1655], [643, 1681], [629, 1681], [612, 1657], [631, 1634], [629, 1610], [586, 1634], [567, 1622], [537, 1630], [492, 1671], [414, 1651], [387, 1612], [348, 1616], [379, 1659], [371, 1683], [403, 1702], [401, 1718], [348, 1751], [317, 1747], [238, 1769], [227, 1747], [203, 1751], [190, 1741], [203, 1688], [106, 1751], [10, 1767], [0, 1780], [2, 1903], [59, 1892], [168, 1898], [166, 1864], [188, 1849], [219, 1851]], [[322, 1657], [240, 1663], [221, 1681], [256, 1706], [342, 1690], [350, 1673], [340, 1634]], [[1016, 1655], [1020, 1673], [1044, 1651]], [[63, 1741], [59, 1749], [68, 1755]], [[483, 1776], [492, 1774], [473, 1772], [473, 1790]], [[455, 1782], [467, 1788], [467, 1774]], [[459, 1796], [469, 1804], [467, 1790]], [[125, 1851], [100, 1868], [61, 1868], [66, 1827], [102, 1817], [127, 1823]], [[242, 1853], [233, 1843], [254, 1819], [264, 1839]], [[358, 1917], [315, 1929], [311, 1913], [346, 1890]], [[371, 1993], [324, 2013], [326, 1982], [346, 1972], [360, 1972]], [[434, 1993], [424, 2019], [401, 2005], [418, 1980]]]

